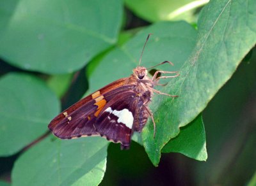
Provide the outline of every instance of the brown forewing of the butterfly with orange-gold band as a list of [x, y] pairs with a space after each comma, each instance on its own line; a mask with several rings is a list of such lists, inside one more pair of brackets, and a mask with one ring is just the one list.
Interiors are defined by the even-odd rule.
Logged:
[[81, 136], [99, 136], [93, 124], [104, 106], [118, 94], [131, 90], [133, 85], [124, 85], [127, 78], [110, 83], [90, 96], [73, 104], [55, 117], [49, 129], [59, 138], [72, 139]]

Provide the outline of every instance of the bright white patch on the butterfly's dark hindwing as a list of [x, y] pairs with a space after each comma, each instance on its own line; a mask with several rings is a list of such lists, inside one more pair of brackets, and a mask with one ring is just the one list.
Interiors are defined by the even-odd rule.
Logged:
[[[108, 110], [108, 108], [106, 110]], [[111, 111], [112, 111], [112, 109], [111, 109]], [[113, 113], [113, 115], [118, 117], [118, 120], [117, 120], [118, 123], [123, 123], [127, 127], [129, 127], [130, 129], [132, 129], [133, 116], [132, 116], [131, 111], [129, 111], [127, 108], [125, 108], [125, 109], [120, 110], [120, 111], [114, 110], [114, 111], [112, 111], [112, 113]]]

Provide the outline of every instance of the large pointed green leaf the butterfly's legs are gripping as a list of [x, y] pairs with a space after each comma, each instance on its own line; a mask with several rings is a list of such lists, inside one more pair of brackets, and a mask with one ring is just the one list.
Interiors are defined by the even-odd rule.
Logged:
[[179, 134], [179, 127], [191, 122], [232, 76], [243, 57], [256, 42], [256, 2], [253, 0], [211, 1], [198, 21], [196, 47], [162, 92], [179, 95], [175, 99], [161, 97], [152, 124], [143, 130], [143, 142], [151, 161], [157, 165], [161, 149]]

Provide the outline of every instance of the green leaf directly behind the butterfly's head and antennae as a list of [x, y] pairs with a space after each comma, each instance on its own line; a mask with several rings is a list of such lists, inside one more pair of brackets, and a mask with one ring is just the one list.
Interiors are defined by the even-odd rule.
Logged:
[[[175, 66], [164, 65], [159, 69], [179, 70], [195, 46], [196, 31], [186, 22], [159, 22], [141, 30], [121, 47], [113, 48], [97, 64], [97, 69], [88, 71], [90, 74], [88, 92], [93, 92], [107, 83], [131, 75], [132, 69], [138, 66], [142, 47], [150, 32], [154, 34], [147, 43], [141, 66], [150, 67], [159, 62], [172, 61]], [[158, 50], [160, 47], [161, 50]], [[91, 69], [90, 65], [89, 69]], [[115, 76], [112, 73], [106, 73], [106, 69], [114, 69]]]

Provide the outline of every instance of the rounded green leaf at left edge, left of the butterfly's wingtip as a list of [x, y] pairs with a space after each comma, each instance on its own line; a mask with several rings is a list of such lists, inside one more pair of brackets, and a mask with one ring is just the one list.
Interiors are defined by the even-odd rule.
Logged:
[[0, 156], [7, 156], [47, 131], [60, 102], [42, 80], [30, 75], [5, 75], [0, 90]]

